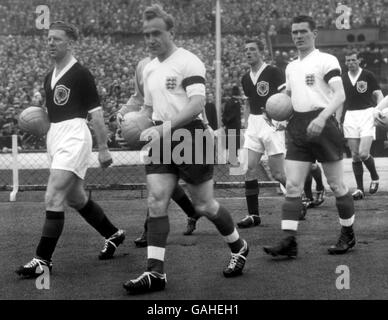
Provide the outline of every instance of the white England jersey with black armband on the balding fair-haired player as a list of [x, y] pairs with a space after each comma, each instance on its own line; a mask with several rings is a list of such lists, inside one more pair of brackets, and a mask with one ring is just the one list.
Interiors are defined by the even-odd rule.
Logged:
[[155, 58], [148, 63], [143, 71], [144, 104], [153, 107], [152, 119], [171, 120], [190, 97], [205, 97], [205, 74], [203, 62], [183, 48], [162, 62]]

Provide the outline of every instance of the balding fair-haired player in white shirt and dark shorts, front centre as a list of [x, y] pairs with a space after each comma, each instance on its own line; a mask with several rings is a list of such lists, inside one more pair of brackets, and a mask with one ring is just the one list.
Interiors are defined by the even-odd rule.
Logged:
[[[193, 137], [189, 142], [192, 157], [189, 163], [178, 163], [172, 153], [171, 161], [164, 161], [162, 156], [165, 152], [160, 152], [156, 155], [160, 159], [146, 165], [150, 215], [147, 221], [147, 271], [124, 283], [124, 288], [131, 294], [165, 288], [164, 256], [170, 228], [167, 210], [179, 178], [187, 183], [196, 212], [214, 223], [232, 251], [230, 262], [223, 270], [224, 276], [241, 275], [249, 252], [230, 213], [214, 199], [213, 164], [198, 164], [195, 161], [196, 139], [193, 135], [195, 130], [203, 132], [205, 129], [200, 114], [205, 105], [206, 70], [197, 56], [176, 47], [173, 28], [173, 17], [159, 5], [145, 9], [143, 33], [150, 52], [157, 58], [145, 67], [143, 73], [144, 112], [159, 124], [143, 131], [141, 138], [154, 136], [155, 143], [160, 143], [161, 149], [169, 153], [180, 141], [171, 140], [171, 136], [163, 132], [166, 126], [161, 123], [170, 124], [171, 133], [184, 128]], [[154, 150], [151, 152], [154, 153]], [[154, 156], [152, 154], [152, 158]]]

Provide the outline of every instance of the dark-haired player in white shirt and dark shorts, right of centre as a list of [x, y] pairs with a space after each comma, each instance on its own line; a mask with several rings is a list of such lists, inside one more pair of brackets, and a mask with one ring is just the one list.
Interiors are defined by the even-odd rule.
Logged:
[[330, 254], [346, 253], [356, 240], [353, 198], [343, 178], [344, 137], [334, 117], [345, 101], [341, 68], [337, 58], [315, 48], [318, 31], [311, 17], [295, 17], [291, 30], [299, 59], [286, 68], [286, 91], [291, 96], [294, 115], [286, 132], [284, 239], [275, 246], [264, 247], [264, 251], [272, 256], [296, 257], [302, 189], [311, 164], [318, 160], [336, 197], [341, 224], [340, 237], [328, 251]]

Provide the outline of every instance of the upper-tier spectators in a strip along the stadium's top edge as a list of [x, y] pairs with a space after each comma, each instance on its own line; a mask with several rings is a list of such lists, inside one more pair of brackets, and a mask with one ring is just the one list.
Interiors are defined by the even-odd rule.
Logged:
[[[53, 19], [71, 17], [69, 22], [82, 26], [84, 34], [139, 33], [139, 16], [152, 0], [46, 0]], [[212, 1], [159, 0], [177, 19], [177, 30], [182, 33], [206, 34], [214, 28]], [[2, 0], [0, 26], [4, 33], [35, 33], [34, 15], [40, 0]], [[293, 16], [300, 13], [312, 15], [322, 28], [335, 28], [338, 5], [351, 7], [353, 28], [378, 26], [388, 28], [387, 0], [222, 0], [225, 32], [259, 33], [271, 26], [278, 33], [289, 33]], [[306, 11], [306, 8], [307, 11]]]

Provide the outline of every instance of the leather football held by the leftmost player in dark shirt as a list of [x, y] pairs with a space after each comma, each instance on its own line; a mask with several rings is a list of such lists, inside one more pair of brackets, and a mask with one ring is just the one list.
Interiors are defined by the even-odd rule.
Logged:
[[28, 107], [19, 115], [19, 128], [37, 137], [43, 137], [50, 128], [47, 112], [40, 107]]

